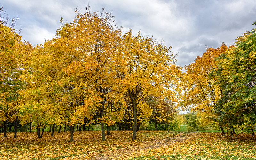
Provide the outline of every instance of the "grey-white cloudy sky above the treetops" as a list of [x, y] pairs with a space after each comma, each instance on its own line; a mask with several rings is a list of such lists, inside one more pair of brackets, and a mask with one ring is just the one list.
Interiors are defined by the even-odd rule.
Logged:
[[76, 7], [81, 13], [87, 5], [91, 12], [105, 8], [115, 16], [123, 32], [154, 36], [178, 53], [177, 64], [185, 66], [201, 56], [207, 47], [222, 42], [233, 45], [238, 36], [256, 26], [255, 0], [1, 0], [3, 13], [19, 18], [23, 40], [43, 44], [55, 37], [64, 22], [72, 22]]

